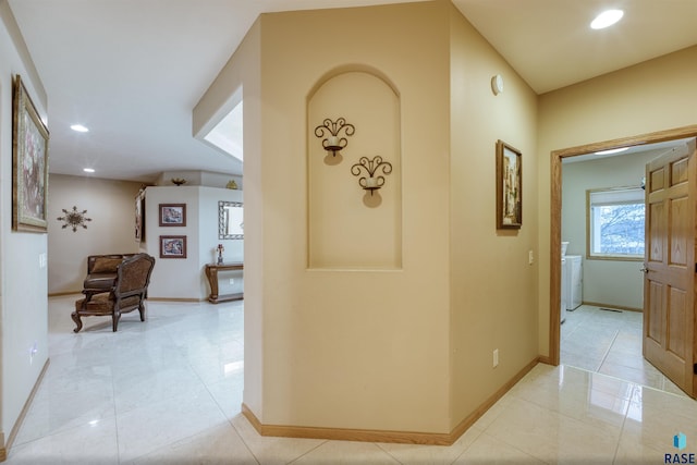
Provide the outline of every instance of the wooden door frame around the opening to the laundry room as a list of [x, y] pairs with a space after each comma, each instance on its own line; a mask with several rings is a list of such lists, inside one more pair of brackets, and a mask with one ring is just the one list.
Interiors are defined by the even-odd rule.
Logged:
[[[592, 154], [612, 148], [656, 144], [681, 138], [697, 137], [697, 124], [659, 131], [631, 137], [622, 137], [576, 147], [568, 147], [551, 152], [550, 170], [550, 282], [549, 282], [549, 357], [545, 362], [557, 366], [560, 363], [561, 343], [561, 259], [562, 259], [562, 159]], [[693, 347], [695, 350], [695, 347]]]

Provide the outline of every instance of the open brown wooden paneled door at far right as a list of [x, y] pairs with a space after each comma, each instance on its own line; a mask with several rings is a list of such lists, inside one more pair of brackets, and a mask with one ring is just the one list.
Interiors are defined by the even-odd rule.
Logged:
[[646, 166], [644, 356], [694, 391], [695, 140]]

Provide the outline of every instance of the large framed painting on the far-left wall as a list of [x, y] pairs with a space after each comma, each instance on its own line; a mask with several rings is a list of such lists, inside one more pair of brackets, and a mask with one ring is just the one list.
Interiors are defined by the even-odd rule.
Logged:
[[48, 232], [48, 129], [20, 75], [12, 109], [12, 229]]

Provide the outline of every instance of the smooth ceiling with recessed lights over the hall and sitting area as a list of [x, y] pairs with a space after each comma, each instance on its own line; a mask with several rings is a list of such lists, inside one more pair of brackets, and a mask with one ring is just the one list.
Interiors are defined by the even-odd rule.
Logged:
[[[50, 172], [241, 174], [192, 110], [261, 12], [409, 0], [9, 0], [49, 99]], [[695, 0], [453, 0], [538, 94], [697, 44]], [[614, 27], [591, 30], [606, 8]], [[81, 123], [88, 133], [70, 125]]]

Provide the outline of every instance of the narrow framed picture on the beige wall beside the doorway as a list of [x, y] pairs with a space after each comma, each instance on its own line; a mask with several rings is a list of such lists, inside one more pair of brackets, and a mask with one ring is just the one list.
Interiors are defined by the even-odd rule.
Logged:
[[523, 225], [523, 155], [497, 140], [497, 228]]

